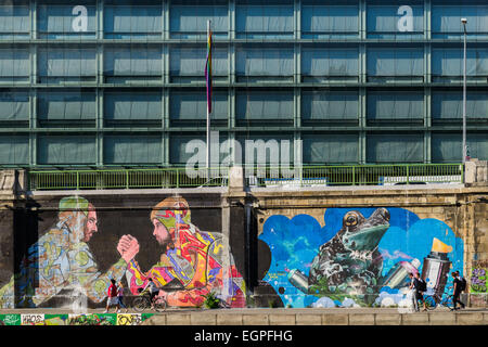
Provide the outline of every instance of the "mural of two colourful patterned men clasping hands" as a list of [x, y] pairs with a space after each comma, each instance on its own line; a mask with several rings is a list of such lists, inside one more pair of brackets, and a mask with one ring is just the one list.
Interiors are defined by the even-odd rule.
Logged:
[[[94, 204], [81, 196], [61, 198], [54, 224], [28, 247], [20, 271], [1, 286], [0, 307], [57, 307], [52, 298], [61, 297], [70, 301], [84, 297], [91, 306], [102, 307], [111, 279], [125, 281], [130, 293], [139, 295], [150, 278], [169, 306], [198, 307], [204, 295], [213, 292], [231, 307], [244, 307], [245, 284], [228, 240], [193, 224], [183, 197], [167, 197], [152, 205], [149, 213], [134, 216], [144, 220], [142, 228], [134, 218], [119, 213], [121, 221], [110, 217], [105, 223], [116, 224], [117, 230], [99, 230]], [[98, 242], [92, 241], [95, 235]], [[97, 257], [93, 248], [99, 248], [102, 257]], [[113, 260], [107, 264], [111, 254]]]

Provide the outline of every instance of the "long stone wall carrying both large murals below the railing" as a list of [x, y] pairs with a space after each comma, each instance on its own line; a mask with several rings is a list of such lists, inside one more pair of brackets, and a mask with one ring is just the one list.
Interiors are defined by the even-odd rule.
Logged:
[[[402, 306], [404, 279], [390, 274], [414, 259], [439, 296], [459, 270], [464, 301], [488, 303], [483, 182], [298, 191], [246, 190], [240, 180], [229, 190], [77, 195], [21, 183], [0, 190], [3, 308], [103, 307], [110, 278], [130, 295], [150, 275], [169, 283], [175, 306], [201, 306], [210, 291], [233, 307]], [[179, 240], [175, 248], [162, 246], [157, 222]]]

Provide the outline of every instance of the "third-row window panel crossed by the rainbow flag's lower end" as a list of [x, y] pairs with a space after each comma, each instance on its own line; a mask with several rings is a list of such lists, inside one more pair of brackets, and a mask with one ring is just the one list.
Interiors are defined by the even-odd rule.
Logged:
[[[227, 119], [229, 101], [227, 93], [213, 92], [211, 119]], [[169, 95], [169, 117], [175, 120], [205, 120], [207, 95], [205, 91], [174, 91]]]

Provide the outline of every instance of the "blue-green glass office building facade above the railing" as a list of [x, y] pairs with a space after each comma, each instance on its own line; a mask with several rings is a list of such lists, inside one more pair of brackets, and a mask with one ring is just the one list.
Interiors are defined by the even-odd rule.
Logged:
[[184, 165], [206, 139], [207, 21], [222, 149], [461, 163], [462, 17], [468, 155], [488, 159], [486, 1], [3, 0], [0, 165]]

